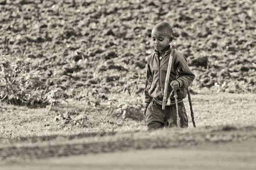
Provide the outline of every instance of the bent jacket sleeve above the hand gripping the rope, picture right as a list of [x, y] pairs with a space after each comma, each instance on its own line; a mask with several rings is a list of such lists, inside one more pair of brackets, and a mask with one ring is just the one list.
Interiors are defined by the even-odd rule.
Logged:
[[195, 79], [195, 75], [190, 70], [185, 56], [180, 57], [178, 60], [177, 72], [179, 73], [177, 81], [179, 82], [180, 88], [188, 88]]

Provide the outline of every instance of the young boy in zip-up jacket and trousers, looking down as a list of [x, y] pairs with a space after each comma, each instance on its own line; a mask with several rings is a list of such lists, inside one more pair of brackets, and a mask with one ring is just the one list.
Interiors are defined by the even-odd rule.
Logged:
[[[169, 76], [167, 97], [172, 90], [177, 91], [180, 127], [188, 127], [183, 99], [195, 75], [189, 69], [186, 57], [169, 45], [172, 42], [172, 27], [166, 23], [158, 23], [151, 32], [154, 53], [148, 57], [145, 81], [144, 116], [148, 129], [177, 126], [177, 111], [175, 98], [171, 96], [171, 103], [162, 109], [166, 76]], [[173, 51], [173, 52], [172, 52]], [[170, 57], [170, 54], [172, 55]], [[172, 58], [172, 68], [166, 75], [169, 58]], [[168, 121], [169, 120], [169, 121]]]

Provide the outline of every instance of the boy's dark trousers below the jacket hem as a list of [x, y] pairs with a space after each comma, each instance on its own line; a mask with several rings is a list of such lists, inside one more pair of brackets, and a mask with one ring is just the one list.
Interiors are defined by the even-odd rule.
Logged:
[[[188, 117], [184, 103], [181, 102], [178, 106], [180, 127], [188, 127]], [[166, 106], [165, 109], [162, 110], [161, 105], [151, 101], [145, 115], [145, 122], [148, 126], [148, 130], [169, 127], [168, 119], [171, 121], [170, 127], [177, 127], [176, 105]]]

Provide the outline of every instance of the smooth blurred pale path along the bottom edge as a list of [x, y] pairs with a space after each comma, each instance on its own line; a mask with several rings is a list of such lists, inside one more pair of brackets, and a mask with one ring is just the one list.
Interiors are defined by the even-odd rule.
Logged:
[[2, 165], [1, 170], [255, 170], [256, 141], [88, 154]]

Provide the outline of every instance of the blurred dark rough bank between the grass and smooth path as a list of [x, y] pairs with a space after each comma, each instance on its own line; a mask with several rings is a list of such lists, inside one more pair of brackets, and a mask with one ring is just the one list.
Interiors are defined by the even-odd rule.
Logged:
[[6, 163], [20, 163], [29, 162], [33, 159], [88, 153], [175, 148], [206, 143], [246, 141], [249, 139], [256, 139], [256, 127], [219, 126], [197, 129], [166, 129], [73, 140], [6, 144], [0, 147], [0, 158]]

